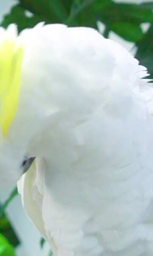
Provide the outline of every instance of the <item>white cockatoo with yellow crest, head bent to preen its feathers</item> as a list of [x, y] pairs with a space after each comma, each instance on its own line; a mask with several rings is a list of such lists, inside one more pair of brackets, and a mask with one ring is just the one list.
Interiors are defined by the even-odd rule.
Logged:
[[18, 189], [55, 256], [153, 256], [153, 87], [143, 77], [95, 29], [0, 29], [1, 181], [36, 157]]

